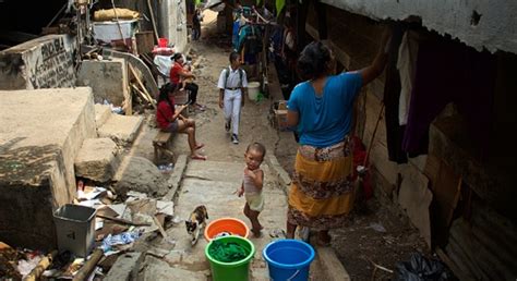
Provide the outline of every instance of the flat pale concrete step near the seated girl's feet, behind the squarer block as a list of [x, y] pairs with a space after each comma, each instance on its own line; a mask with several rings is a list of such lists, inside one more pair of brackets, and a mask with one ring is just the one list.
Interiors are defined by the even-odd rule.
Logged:
[[98, 127], [99, 137], [109, 137], [121, 146], [133, 143], [144, 121], [143, 117], [127, 117], [111, 113], [111, 117]]

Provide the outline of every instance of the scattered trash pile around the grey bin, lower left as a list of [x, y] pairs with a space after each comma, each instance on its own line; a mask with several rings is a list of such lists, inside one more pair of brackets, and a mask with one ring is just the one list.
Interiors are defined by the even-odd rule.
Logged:
[[[146, 194], [139, 192], [129, 192], [121, 196], [111, 188], [88, 186], [80, 181], [77, 198], [71, 206], [92, 208], [95, 213], [91, 221], [92, 225], [95, 225], [91, 241], [93, 245], [89, 246], [88, 241], [76, 239], [82, 237], [81, 233], [73, 234], [73, 239], [76, 240], [72, 242], [76, 242], [77, 245], [72, 245], [71, 251], [63, 251], [65, 243], [60, 241], [62, 235], [60, 236], [59, 233], [59, 252], [56, 249], [43, 253], [15, 248], [0, 242], [0, 277], [8, 280], [25, 280], [27, 277], [32, 277], [32, 280], [76, 279], [77, 277], [93, 280], [95, 277], [104, 277], [118, 256], [131, 252], [139, 240], [149, 242], [161, 235], [168, 243], [176, 244], [176, 241], [167, 237], [165, 232], [167, 228], [179, 222], [173, 218], [172, 201], [149, 198]], [[58, 212], [59, 209], [56, 213]], [[71, 221], [76, 219], [77, 217], [71, 218]], [[77, 232], [81, 232], [80, 230]], [[58, 227], [57, 232], [63, 230]], [[87, 258], [73, 253], [73, 249], [81, 248], [81, 244], [84, 245], [83, 248], [92, 249]]]

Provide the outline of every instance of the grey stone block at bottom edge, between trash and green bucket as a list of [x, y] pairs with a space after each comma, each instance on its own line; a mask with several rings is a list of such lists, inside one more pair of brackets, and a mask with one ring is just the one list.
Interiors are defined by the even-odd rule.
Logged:
[[103, 280], [106, 281], [130, 281], [136, 280], [140, 265], [144, 259], [142, 253], [125, 253], [119, 256], [117, 261]]

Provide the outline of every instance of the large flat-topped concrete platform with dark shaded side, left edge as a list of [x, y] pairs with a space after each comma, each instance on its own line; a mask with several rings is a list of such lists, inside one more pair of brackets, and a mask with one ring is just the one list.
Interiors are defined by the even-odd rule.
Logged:
[[75, 196], [75, 156], [97, 136], [92, 89], [0, 91], [0, 241], [53, 248], [52, 213]]

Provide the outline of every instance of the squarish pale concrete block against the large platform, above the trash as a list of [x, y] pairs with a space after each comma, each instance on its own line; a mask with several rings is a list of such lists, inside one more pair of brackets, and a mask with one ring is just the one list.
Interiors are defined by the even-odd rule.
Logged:
[[96, 182], [109, 181], [119, 167], [117, 144], [111, 138], [88, 138], [75, 158], [75, 175]]

